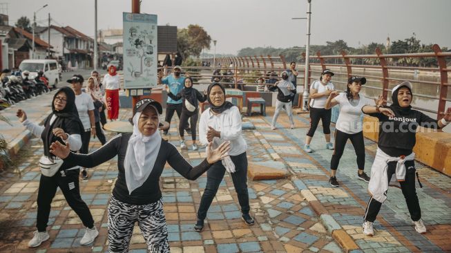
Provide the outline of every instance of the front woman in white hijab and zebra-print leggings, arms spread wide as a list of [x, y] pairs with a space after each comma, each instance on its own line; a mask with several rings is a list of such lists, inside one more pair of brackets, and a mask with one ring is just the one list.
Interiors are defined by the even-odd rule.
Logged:
[[227, 157], [229, 143], [213, 150], [196, 167], [186, 162], [173, 144], [162, 140], [160, 103], [151, 99], [137, 102], [133, 115], [133, 133], [119, 134], [88, 155], [76, 154], [68, 147], [53, 143], [51, 153], [64, 161], [95, 167], [118, 156], [119, 174], [108, 205], [108, 250], [128, 252], [133, 226], [138, 223], [150, 252], [169, 252], [168, 229], [164, 218], [160, 176], [166, 162], [189, 180], [195, 180], [216, 161]]

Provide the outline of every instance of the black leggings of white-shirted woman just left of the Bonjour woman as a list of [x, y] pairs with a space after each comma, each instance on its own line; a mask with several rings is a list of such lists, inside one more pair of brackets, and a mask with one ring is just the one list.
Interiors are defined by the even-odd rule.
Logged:
[[365, 143], [363, 142], [363, 131], [358, 133], [343, 133], [338, 129], [335, 131], [335, 150], [332, 155], [332, 160], [330, 160], [330, 169], [336, 170], [338, 168], [338, 163], [340, 163], [340, 158], [343, 156], [347, 139], [351, 140], [354, 151], [356, 151], [358, 169], [364, 169]]

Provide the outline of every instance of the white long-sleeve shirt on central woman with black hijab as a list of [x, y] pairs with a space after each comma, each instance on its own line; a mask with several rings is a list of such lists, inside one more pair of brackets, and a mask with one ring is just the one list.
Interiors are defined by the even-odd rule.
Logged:
[[200, 115], [199, 120], [199, 139], [200, 143], [207, 144], [207, 132], [209, 127], [221, 132], [221, 137], [213, 139], [213, 148], [218, 147], [222, 142], [230, 141], [230, 156], [238, 156], [247, 150], [247, 143], [242, 137], [242, 122], [240, 110], [232, 106], [226, 111], [214, 115], [210, 109], [205, 110]]

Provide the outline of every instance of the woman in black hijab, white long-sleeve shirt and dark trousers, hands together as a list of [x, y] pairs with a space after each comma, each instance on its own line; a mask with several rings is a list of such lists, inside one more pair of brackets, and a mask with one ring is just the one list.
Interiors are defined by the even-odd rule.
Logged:
[[242, 219], [247, 225], [253, 225], [249, 215], [249, 193], [247, 191], [247, 144], [242, 137], [241, 114], [238, 107], [225, 101], [225, 89], [221, 84], [213, 83], [207, 88], [207, 100], [210, 108], [200, 115], [200, 143], [213, 142], [215, 147], [230, 141], [230, 157], [215, 162], [207, 171], [207, 185], [200, 200], [198, 222], [194, 229], [201, 232], [204, 229], [204, 219], [218, 191], [218, 187], [227, 170], [231, 174], [235, 191], [240, 202]]

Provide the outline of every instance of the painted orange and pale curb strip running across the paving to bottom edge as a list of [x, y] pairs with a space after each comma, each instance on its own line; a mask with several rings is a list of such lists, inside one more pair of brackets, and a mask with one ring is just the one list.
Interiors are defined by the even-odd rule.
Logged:
[[[295, 185], [297, 186], [299, 183]], [[332, 237], [340, 244], [345, 252], [361, 252], [352, 237], [346, 233], [309, 189], [300, 189], [300, 194], [303, 194], [305, 200], [307, 200], [311, 208], [314, 209], [314, 212], [320, 216], [321, 223], [325, 226], [327, 231], [332, 234]]]

